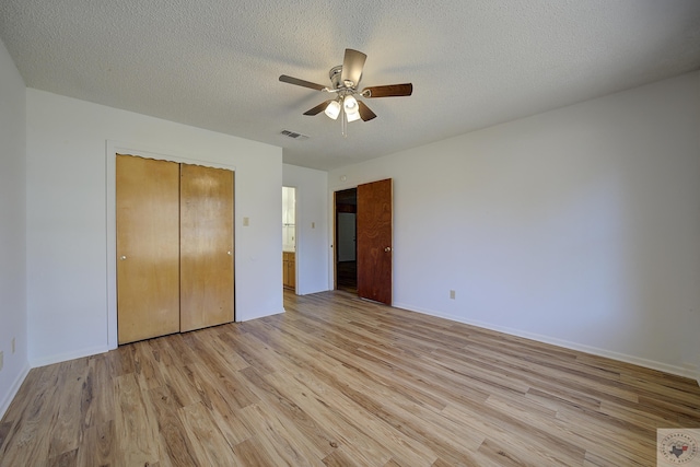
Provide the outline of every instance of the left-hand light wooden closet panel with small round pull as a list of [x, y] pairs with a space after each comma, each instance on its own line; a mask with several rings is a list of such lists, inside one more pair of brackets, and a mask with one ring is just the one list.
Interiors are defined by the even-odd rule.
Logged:
[[117, 154], [119, 343], [179, 330], [179, 166]]

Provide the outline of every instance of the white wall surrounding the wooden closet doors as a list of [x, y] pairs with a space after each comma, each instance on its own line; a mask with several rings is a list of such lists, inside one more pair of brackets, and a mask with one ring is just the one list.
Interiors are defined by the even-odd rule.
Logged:
[[283, 311], [281, 148], [32, 89], [26, 108], [33, 366], [115, 343], [115, 148], [234, 168], [236, 320]]

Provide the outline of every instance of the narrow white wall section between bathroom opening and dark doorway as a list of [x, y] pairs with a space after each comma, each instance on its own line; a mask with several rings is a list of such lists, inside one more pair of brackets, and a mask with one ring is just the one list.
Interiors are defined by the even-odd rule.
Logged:
[[[296, 293], [328, 290], [328, 174], [283, 164], [284, 186], [296, 188]], [[280, 288], [282, 259], [279, 258]]]

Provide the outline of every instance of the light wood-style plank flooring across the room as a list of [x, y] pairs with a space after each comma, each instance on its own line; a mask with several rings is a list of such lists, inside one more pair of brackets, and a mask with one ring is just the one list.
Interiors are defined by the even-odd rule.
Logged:
[[653, 466], [695, 381], [362, 302], [30, 372], [2, 466]]

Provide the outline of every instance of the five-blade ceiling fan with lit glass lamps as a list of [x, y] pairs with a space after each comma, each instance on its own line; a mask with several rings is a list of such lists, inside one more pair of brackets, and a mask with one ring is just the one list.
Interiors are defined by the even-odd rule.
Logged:
[[[282, 74], [280, 77], [280, 81], [336, 94], [336, 98], [322, 102], [314, 108], [306, 110], [304, 115], [317, 115], [324, 112], [334, 120], [340, 115], [342, 121], [342, 136], [347, 136], [348, 122], [355, 121], [358, 119], [369, 121], [376, 117], [376, 114], [372, 112], [365, 103], [359, 101], [357, 97], [400, 97], [409, 96], [413, 92], [413, 84], [411, 83], [370, 86], [362, 91], [358, 91], [358, 85], [362, 79], [362, 69], [364, 68], [364, 61], [366, 58], [368, 56], [365, 54], [347, 48], [342, 65], [331, 68], [328, 72], [331, 86], [324, 86], [323, 84], [312, 83], [311, 81], [300, 80], [299, 78], [288, 77], [287, 74]], [[343, 112], [340, 112], [341, 109]]]

